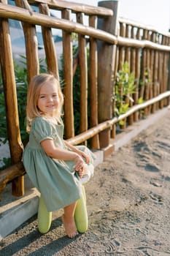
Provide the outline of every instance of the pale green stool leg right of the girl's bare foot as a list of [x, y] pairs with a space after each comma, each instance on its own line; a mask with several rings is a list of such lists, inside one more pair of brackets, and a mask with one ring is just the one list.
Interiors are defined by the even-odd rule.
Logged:
[[86, 208], [85, 187], [82, 186], [82, 197], [77, 200], [77, 205], [74, 213], [74, 220], [77, 230], [80, 233], [85, 233], [88, 230], [88, 211]]

